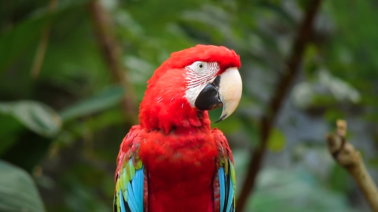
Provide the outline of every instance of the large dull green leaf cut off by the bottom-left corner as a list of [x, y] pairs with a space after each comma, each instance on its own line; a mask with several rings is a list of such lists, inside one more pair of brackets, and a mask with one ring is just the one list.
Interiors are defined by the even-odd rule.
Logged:
[[31, 176], [19, 167], [2, 160], [0, 160], [0, 211], [45, 211]]

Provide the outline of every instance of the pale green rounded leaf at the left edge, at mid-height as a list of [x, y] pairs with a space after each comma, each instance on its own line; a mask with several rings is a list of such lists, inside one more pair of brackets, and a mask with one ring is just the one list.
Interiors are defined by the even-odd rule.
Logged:
[[59, 115], [37, 101], [0, 102], [0, 113], [13, 116], [31, 131], [45, 137], [53, 137], [62, 126]]

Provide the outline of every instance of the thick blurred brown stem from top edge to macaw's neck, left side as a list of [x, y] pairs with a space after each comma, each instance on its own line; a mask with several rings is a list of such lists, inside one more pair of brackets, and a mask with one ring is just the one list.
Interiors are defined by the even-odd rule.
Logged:
[[127, 71], [122, 65], [122, 49], [117, 43], [112, 19], [98, 0], [92, 0], [89, 3], [89, 11], [98, 43], [101, 46], [102, 56], [113, 80], [125, 88], [125, 95], [122, 100], [125, 120], [130, 124], [138, 123], [135, 92], [127, 77]]

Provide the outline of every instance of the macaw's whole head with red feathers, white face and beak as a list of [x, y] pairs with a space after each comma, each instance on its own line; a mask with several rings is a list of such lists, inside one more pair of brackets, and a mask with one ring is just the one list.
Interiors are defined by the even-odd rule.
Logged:
[[174, 52], [147, 82], [139, 121], [149, 130], [209, 126], [208, 110], [223, 106], [222, 121], [242, 96], [240, 59], [224, 46], [197, 45]]

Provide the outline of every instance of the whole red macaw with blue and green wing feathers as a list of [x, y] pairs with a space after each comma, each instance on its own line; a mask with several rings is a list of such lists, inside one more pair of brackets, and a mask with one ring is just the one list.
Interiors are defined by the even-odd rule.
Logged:
[[114, 212], [234, 212], [234, 161], [208, 111], [229, 117], [242, 96], [240, 56], [225, 46], [173, 52], [152, 77], [139, 124], [123, 138]]

